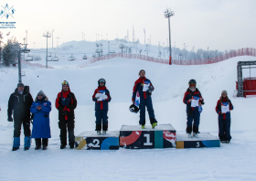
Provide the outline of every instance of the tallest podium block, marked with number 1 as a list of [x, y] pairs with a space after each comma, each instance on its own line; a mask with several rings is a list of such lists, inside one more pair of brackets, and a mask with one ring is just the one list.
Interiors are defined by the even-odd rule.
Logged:
[[176, 147], [176, 130], [171, 124], [123, 125], [120, 130], [120, 146], [126, 149], [152, 149]]

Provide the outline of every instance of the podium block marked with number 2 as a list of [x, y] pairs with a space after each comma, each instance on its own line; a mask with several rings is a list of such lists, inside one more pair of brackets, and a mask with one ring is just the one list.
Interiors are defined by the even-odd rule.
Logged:
[[75, 138], [75, 147], [78, 150], [118, 150], [119, 132], [107, 132], [97, 135], [96, 131], [80, 133]]

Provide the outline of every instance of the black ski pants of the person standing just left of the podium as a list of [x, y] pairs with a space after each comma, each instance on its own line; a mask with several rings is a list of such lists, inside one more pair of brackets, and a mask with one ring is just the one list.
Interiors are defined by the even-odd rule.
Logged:
[[67, 127], [69, 132], [69, 145], [75, 144], [75, 121], [74, 120], [59, 120], [60, 129], [60, 144], [67, 145]]

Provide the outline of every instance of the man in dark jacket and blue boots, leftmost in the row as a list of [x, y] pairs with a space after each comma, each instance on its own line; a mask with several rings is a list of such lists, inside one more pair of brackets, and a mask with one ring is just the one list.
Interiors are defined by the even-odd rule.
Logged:
[[[11, 94], [8, 101], [8, 122], [14, 121], [14, 143], [13, 151], [19, 149], [20, 131], [23, 124], [24, 129], [24, 150], [30, 147], [30, 107], [33, 102], [31, 94], [24, 90], [24, 84], [18, 83], [16, 91]], [[14, 113], [14, 119], [12, 114]]]

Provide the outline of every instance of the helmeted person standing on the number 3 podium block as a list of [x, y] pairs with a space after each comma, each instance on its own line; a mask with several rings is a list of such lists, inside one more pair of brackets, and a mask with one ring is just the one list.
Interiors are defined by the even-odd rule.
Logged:
[[[189, 80], [188, 81], [188, 88], [187, 91], [184, 94], [183, 102], [187, 104], [187, 134], [188, 137], [192, 137], [192, 132], [193, 136], [198, 137], [198, 127], [199, 127], [199, 122], [200, 122], [200, 112], [198, 111], [198, 106], [201, 104], [204, 104], [204, 99], [202, 98], [201, 92], [198, 91], [196, 88], [197, 86], [197, 81], [196, 80]], [[192, 99], [198, 98], [198, 106], [197, 107], [191, 107], [191, 101]], [[194, 121], [194, 123], [193, 123]], [[193, 123], [193, 128], [192, 128], [192, 123]]]

